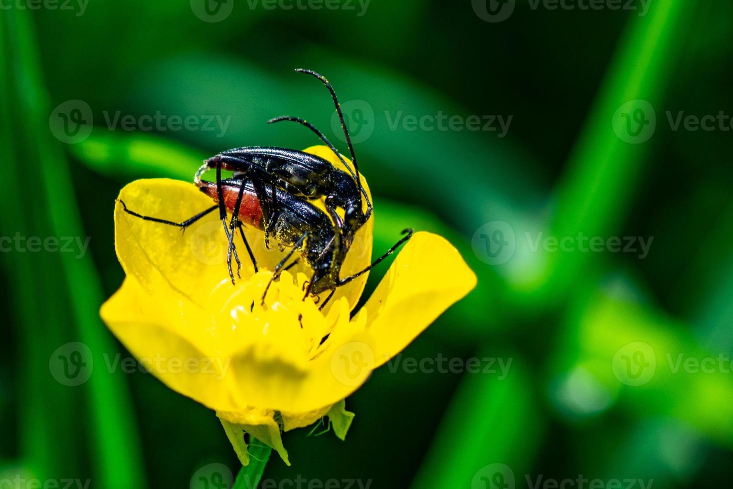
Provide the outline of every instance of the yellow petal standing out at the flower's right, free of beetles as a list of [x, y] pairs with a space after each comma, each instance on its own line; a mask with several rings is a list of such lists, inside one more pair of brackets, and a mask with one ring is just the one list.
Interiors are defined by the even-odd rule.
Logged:
[[430, 232], [415, 233], [359, 312], [367, 315], [375, 367], [475, 286], [476, 274], [451, 243]]

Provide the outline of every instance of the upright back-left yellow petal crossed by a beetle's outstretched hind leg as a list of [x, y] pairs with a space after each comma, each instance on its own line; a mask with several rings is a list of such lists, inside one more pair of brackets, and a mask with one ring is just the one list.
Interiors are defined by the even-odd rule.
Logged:
[[[214, 205], [191, 183], [166, 178], [136, 180], [119, 193], [114, 210], [114, 243], [117, 257], [128, 276], [134, 276], [148, 293], [185, 295], [200, 304], [218, 284], [229, 281], [226, 268], [228, 243], [214, 210], [182, 232], [180, 228], [144, 221], [122, 208], [143, 216], [181, 222]], [[261, 232], [246, 228], [258, 264], [273, 266], [279, 253], [265, 253]], [[235, 240], [243, 265], [242, 276], [253, 268], [244, 244]], [[257, 246], [257, 245], [260, 246]]]

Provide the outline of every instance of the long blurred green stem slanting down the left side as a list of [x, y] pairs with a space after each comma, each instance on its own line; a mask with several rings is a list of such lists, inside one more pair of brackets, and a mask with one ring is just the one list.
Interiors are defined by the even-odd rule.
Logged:
[[[21, 112], [19, 127], [30, 144], [26, 153], [34, 155], [34, 163], [40, 169], [41, 187], [36, 191], [43, 192], [47, 199], [54, 235], [81, 237], [86, 233], [75, 202], [70, 169], [59, 141], [51, 137], [48, 129], [48, 95], [29, 15], [27, 10], [18, 9], [3, 14], [14, 46], [10, 54], [16, 77], [14, 96]], [[61, 262], [78, 337], [94, 353], [95, 363], [103, 365], [103, 354], [112, 354], [116, 348], [99, 319], [103, 293], [92, 258], [62, 254]], [[144, 488], [141, 450], [124, 380], [109, 372], [98, 372], [84, 387], [88, 389], [92, 418], [88, 434], [99, 471], [95, 485], [109, 489]], [[54, 433], [45, 436], [53, 444]]]

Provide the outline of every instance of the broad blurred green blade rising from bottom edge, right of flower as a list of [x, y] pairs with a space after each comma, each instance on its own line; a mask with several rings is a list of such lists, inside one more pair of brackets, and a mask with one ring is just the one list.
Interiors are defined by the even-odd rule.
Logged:
[[509, 478], [526, 473], [542, 444], [544, 426], [529, 372], [520, 367], [524, 363], [513, 358], [502, 380], [464, 375], [413, 488], [495, 487], [485, 485], [482, 477], [497, 473], [509, 484], [503, 487], [513, 487]]

